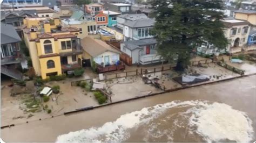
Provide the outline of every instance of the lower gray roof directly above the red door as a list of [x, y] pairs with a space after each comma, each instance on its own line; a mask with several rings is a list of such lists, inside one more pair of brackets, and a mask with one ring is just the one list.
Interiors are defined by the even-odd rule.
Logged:
[[141, 48], [140, 46], [152, 45], [152, 44], [156, 44], [156, 43], [157, 43], [157, 40], [154, 39], [154, 38], [142, 39], [142, 40], [132, 40], [132, 41], [123, 42], [125, 47], [130, 49], [131, 51], [133, 51], [136, 48]]

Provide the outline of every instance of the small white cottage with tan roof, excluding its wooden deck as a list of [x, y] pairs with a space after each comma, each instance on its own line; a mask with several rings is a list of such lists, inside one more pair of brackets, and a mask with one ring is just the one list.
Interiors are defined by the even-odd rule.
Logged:
[[95, 61], [102, 66], [115, 65], [119, 61], [121, 52], [102, 40], [85, 37], [81, 40], [81, 46], [84, 49], [83, 59], [87, 61]]

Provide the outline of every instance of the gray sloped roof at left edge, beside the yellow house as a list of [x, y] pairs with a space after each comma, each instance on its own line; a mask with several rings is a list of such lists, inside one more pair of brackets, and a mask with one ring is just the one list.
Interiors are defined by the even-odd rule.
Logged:
[[19, 38], [14, 26], [9, 24], [1, 24], [1, 41], [1, 45], [3, 45], [13, 42], [20, 42], [21, 38]]

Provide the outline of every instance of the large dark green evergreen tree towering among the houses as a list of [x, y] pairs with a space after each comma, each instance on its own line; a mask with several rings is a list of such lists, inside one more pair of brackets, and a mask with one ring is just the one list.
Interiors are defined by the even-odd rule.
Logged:
[[158, 53], [165, 60], [178, 58], [177, 70], [190, 63], [190, 54], [198, 45], [227, 46], [224, 35], [223, 3], [219, 0], [154, 0], [156, 24], [151, 33], [156, 36]]

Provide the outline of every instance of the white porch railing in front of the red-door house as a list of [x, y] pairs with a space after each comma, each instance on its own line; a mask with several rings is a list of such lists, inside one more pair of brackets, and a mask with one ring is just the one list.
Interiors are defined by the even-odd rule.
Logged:
[[161, 59], [161, 56], [157, 54], [147, 54], [147, 55], [141, 55], [139, 57], [139, 63], [142, 65], [161, 62], [161, 61], [163, 61]]

